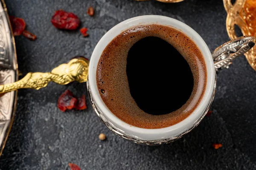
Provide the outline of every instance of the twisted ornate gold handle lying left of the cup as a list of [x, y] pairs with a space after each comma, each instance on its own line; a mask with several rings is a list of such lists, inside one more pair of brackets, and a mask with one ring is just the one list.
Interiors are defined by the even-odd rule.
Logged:
[[0, 94], [15, 91], [20, 88], [40, 89], [48, 82], [66, 85], [70, 82], [86, 82], [88, 76], [89, 60], [84, 57], [74, 58], [67, 64], [61, 64], [48, 73], [28, 73], [17, 82], [0, 85]]

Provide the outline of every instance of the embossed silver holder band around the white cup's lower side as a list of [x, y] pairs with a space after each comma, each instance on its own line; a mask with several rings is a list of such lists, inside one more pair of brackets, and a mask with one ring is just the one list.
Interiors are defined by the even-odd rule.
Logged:
[[117, 136], [122, 137], [124, 139], [127, 139], [131, 142], [137, 143], [137, 144], [143, 144], [143, 145], [160, 145], [160, 144], [167, 144], [170, 142], [174, 142], [175, 140], [181, 138], [184, 134], [189, 133], [192, 129], [194, 129], [200, 122], [201, 120], [204, 118], [204, 116], [207, 114], [207, 112], [209, 111], [209, 108], [212, 104], [212, 101], [214, 99], [214, 95], [215, 95], [215, 88], [216, 88], [216, 74], [215, 74], [215, 84], [214, 84], [214, 91], [212, 93], [212, 97], [207, 105], [207, 107], [204, 109], [204, 112], [201, 114], [201, 116], [194, 122], [194, 124], [186, 129], [183, 133], [177, 134], [177, 136], [173, 136], [170, 138], [166, 138], [166, 139], [159, 139], [159, 140], [140, 140], [138, 139], [136, 136], [131, 136], [129, 134], [126, 134], [125, 132], [123, 132], [122, 130], [120, 130], [119, 128], [115, 127], [113, 125], [113, 123], [111, 123], [110, 120], [106, 119], [106, 117], [104, 116], [104, 114], [102, 114], [102, 112], [99, 110], [99, 107], [97, 106], [97, 104], [94, 102], [93, 96], [91, 96], [91, 91], [90, 91], [90, 86], [89, 86], [89, 77], [87, 80], [87, 89], [88, 89], [88, 95], [90, 98], [90, 101], [92, 103], [93, 109], [96, 112], [96, 114], [99, 116], [99, 118], [101, 119], [101, 121], [113, 132], [115, 133]]

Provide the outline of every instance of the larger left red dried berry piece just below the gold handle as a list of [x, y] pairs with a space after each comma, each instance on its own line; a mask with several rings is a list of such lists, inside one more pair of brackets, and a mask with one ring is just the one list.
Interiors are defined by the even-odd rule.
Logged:
[[69, 90], [66, 90], [58, 98], [58, 108], [63, 112], [67, 109], [71, 110], [75, 107], [76, 102], [77, 99], [73, 96], [73, 94]]

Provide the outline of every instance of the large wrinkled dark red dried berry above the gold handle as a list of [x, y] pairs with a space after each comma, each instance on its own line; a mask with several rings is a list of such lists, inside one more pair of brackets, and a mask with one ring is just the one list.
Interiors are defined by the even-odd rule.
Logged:
[[75, 30], [80, 25], [80, 20], [75, 14], [63, 10], [55, 11], [51, 22], [56, 28], [66, 30]]

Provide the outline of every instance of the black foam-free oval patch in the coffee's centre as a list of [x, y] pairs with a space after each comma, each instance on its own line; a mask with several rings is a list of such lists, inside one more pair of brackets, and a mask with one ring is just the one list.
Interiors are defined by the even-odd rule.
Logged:
[[136, 104], [152, 115], [181, 108], [193, 90], [188, 62], [171, 44], [158, 37], [145, 37], [131, 47], [126, 74]]

